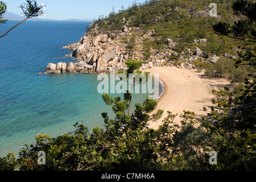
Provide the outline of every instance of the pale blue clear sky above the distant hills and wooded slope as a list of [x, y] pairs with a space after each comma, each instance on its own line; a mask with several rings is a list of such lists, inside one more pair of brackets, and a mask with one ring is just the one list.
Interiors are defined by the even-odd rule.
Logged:
[[[22, 15], [18, 6], [26, 3], [26, 0], [3, 0], [7, 5], [7, 12]], [[145, 0], [136, 0], [136, 3], [143, 3]], [[98, 19], [99, 15], [109, 15], [113, 10], [118, 12], [121, 7], [126, 9], [133, 5], [134, 0], [37, 0], [37, 3], [46, 5], [44, 19]]]

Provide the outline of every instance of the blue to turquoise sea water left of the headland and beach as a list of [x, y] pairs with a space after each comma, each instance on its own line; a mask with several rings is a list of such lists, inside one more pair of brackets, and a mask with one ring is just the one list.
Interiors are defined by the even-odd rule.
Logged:
[[[17, 23], [2, 24], [0, 34]], [[38, 74], [48, 63], [77, 61], [65, 57], [71, 50], [62, 47], [78, 42], [86, 24], [26, 21], [0, 39], [0, 157], [17, 155], [38, 134], [57, 137], [74, 131], [76, 122], [90, 130], [103, 127], [101, 113], [111, 115], [97, 92], [97, 74]], [[147, 96], [134, 94], [133, 105]]]

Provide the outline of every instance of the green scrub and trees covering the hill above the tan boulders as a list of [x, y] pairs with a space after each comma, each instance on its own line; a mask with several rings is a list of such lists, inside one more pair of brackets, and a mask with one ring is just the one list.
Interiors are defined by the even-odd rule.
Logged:
[[[145, 38], [143, 48], [145, 49], [145, 58], [149, 57], [150, 49], [163, 51], [163, 45], [167, 38], [171, 38], [178, 43], [174, 51], [185, 55], [187, 48], [199, 47], [203, 53], [208, 56], [222, 56], [223, 53], [236, 55], [238, 45], [243, 43], [237, 39], [231, 39], [227, 36], [218, 36], [212, 31], [212, 25], [222, 20], [233, 22], [237, 17], [233, 15], [231, 8], [232, 1], [179, 1], [179, 0], [161, 0], [146, 1], [145, 3], [133, 3], [128, 9], [120, 10], [117, 13], [111, 11], [109, 16], [102, 17], [95, 21], [90, 27], [95, 27], [102, 32], [123, 29], [123, 18], [129, 24], [129, 27], [138, 27], [139, 31], [135, 35], [141, 36], [154, 30], [153, 40]], [[207, 12], [211, 9], [210, 3], [217, 4], [218, 17], [211, 17]], [[199, 15], [199, 13], [202, 13]], [[207, 44], [195, 44], [195, 39], [207, 39]], [[135, 44], [134, 38], [129, 40], [129, 44]], [[183, 57], [185, 56], [183, 55]]]

